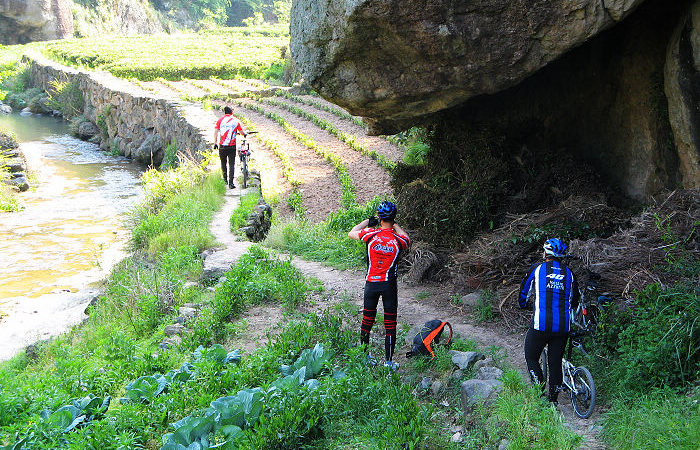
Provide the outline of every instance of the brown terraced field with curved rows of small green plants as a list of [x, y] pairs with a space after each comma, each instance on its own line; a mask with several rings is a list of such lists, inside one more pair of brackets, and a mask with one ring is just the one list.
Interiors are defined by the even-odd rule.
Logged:
[[369, 136], [361, 120], [311, 95], [292, 95], [249, 79], [133, 81], [154, 95], [180, 98], [211, 110], [213, 124], [224, 106], [233, 107], [256, 130], [254, 161], [263, 190], [279, 194], [282, 210], [312, 221], [342, 207], [390, 196], [389, 171], [403, 150]]

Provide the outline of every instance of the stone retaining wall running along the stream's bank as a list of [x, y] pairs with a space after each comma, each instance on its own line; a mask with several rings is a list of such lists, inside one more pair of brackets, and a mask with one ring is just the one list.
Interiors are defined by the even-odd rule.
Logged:
[[[107, 72], [77, 70], [36, 54], [24, 58], [30, 64], [34, 86], [47, 92], [51, 92], [54, 80], [77, 81], [85, 99], [85, 117], [100, 128], [103, 140], [124, 156], [136, 157], [142, 144], [157, 142], [151, 149], [158, 165], [155, 153], [160, 151], [162, 159], [163, 150], [158, 146], [173, 140], [178, 150], [189, 150], [194, 155], [211, 147], [215, 120], [211, 112], [188, 102], [157, 98]], [[109, 148], [104, 142], [102, 146]]]

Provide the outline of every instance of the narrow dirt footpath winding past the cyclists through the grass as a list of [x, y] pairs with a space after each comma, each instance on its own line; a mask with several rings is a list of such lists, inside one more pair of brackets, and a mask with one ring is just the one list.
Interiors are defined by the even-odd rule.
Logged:
[[[219, 242], [219, 247], [209, 254], [204, 261], [205, 271], [227, 270], [232, 264], [245, 254], [251, 242], [238, 240], [230, 231], [229, 219], [232, 212], [240, 203], [240, 197], [244, 190], [235, 188], [226, 191], [226, 201], [221, 210], [215, 215], [209, 228]], [[292, 257], [292, 264], [307, 278], [319, 280], [326, 292], [326, 302], [316, 304], [313, 308], [321, 310], [332, 307], [334, 304], [347, 300], [357, 308], [357, 326], [359, 328], [360, 311], [362, 309], [362, 290], [364, 287], [364, 273], [360, 271], [338, 270], [321, 263], [306, 261], [299, 257]], [[492, 329], [480, 327], [469, 323], [463, 314], [458, 311], [441, 308], [431, 302], [431, 296], [439, 294], [440, 286], [435, 285], [408, 285], [399, 282], [399, 324], [407, 324], [411, 328], [423, 325], [428, 320], [442, 319], [450, 322], [454, 332], [465, 339], [471, 339], [481, 349], [500, 347], [502, 354], [511, 366], [517, 368], [523, 377], [527, 377], [525, 360], [523, 356], [524, 332], [515, 334], [500, 334]], [[428, 295], [430, 294], [430, 295]], [[452, 309], [452, 308], [450, 308]], [[283, 309], [275, 305], [263, 305], [251, 308], [243, 314], [240, 320], [248, 323], [245, 337], [236, 341], [237, 347], [244, 351], [252, 351], [263, 346], [270, 334], [274, 335], [279, 325], [286, 320]], [[383, 325], [375, 324], [372, 330], [373, 340], [383, 337]], [[382, 341], [383, 342], [383, 341]], [[397, 342], [396, 360], [404, 365], [407, 363], [405, 352], [410, 347], [403, 341]], [[582, 449], [607, 448], [597, 436], [600, 427], [596, 425], [600, 418], [600, 412], [594, 412], [589, 419], [581, 419], [576, 416], [568, 401], [568, 397], [561, 394], [559, 411], [563, 414], [566, 424], [574, 432], [582, 436]]]

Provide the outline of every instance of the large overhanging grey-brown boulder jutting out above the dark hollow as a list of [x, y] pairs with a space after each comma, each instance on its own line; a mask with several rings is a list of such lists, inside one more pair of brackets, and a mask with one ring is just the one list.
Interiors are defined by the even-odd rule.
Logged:
[[298, 0], [291, 51], [375, 132], [518, 84], [643, 0]]

